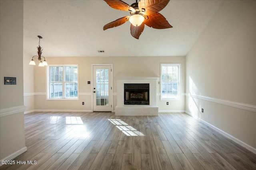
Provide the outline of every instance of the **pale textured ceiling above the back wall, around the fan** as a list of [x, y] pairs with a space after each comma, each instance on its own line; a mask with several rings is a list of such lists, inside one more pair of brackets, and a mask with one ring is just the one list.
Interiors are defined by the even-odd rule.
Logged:
[[185, 56], [221, 4], [219, 0], [171, 0], [160, 14], [173, 28], [145, 25], [140, 39], [135, 39], [129, 21], [103, 31], [105, 24], [130, 15], [103, 0], [24, 0], [24, 51], [36, 55], [37, 35], [41, 35], [45, 57]]

